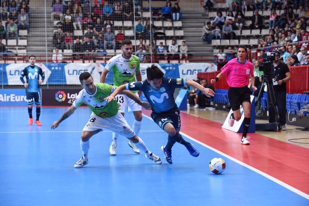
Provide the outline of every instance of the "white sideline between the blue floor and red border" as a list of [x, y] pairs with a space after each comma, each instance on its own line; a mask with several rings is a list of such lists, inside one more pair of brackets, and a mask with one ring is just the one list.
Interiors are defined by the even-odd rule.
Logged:
[[[142, 114], [142, 115], [143, 115], [144, 117], [146, 117], [146, 118], [152, 120], [149, 116], [146, 116], [145, 114]], [[256, 169], [256, 168], [254, 168], [254, 167], [252, 167], [252, 166], [250, 166], [250, 165], [247, 165], [246, 163], [241, 162], [241, 161], [239, 161], [239, 160], [237, 160], [237, 159], [235, 159], [235, 158], [233, 158], [233, 157], [231, 157], [231, 156], [229, 156], [229, 155], [227, 155], [227, 154], [225, 154], [225, 153], [223, 153], [223, 152], [221, 152], [221, 151], [219, 151], [219, 150], [217, 150], [217, 149], [214, 149], [213, 147], [210, 147], [209, 145], [206, 145], [206, 144], [204, 144], [203, 142], [200, 142], [200, 141], [194, 139], [193, 137], [190, 137], [189, 135], [187, 135], [187, 134], [185, 134], [185, 133], [183, 133], [183, 132], [180, 132], [180, 134], [181, 134], [181, 135], [184, 135], [185, 137], [189, 138], [190, 140], [193, 140], [193, 141], [197, 142], [198, 144], [203, 145], [204, 147], [206, 147], [206, 148], [208, 148], [208, 149], [211, 149], [211, 150], [213, 150], [214, 152], [216, 152], [216, 153], [218, 153], [218, 154], [220, 154], [220, 155], [222, 155], [222, 156], [224, 156], [224, 157], [226, 157], [226, 158], [228, 158], [228, 159], [230, 159], [230, 160], [232, 160], [232, 161], [234, 161], [234, 162], [240, 164], [241, 166], [247, 167], [248, 169], [250, 169], [250, 170], [252, 170], [252, 171], [254, 171], [254, 172], [256, 172], [256, 173], [258, 173], [258, 174], [260, 174], [260, 175], [262, 175], [262, 176], [264, 176], [264, 177], [266, 177], [267, 179], [272, 180], [273, 182], [275, 182], [275, 183], [281, 185], [282, 187], [285, 187], [286, 189], [288, 189], [288, 190], [290, 190], [290, 191], [292, 191], [292, 192], [295, 192], [296, 194], [298, 194], [298, 195], [300, 195], [300, 196], [306, 198], [307, 200], [309, 200], [309, 195], [308, 195], [308, 194], [306, 194], [306, 193], [304, 193], [304, 192], [302, 192], [302, 191], [296, 189], [295, 187], [292, 187], [292, 186], [290, 186], [290, 185], [288, 185], [288, 184], [282, 182], [281, 180], [278, 180], [278, 179], [276, 179], [276, 178], [270, 176], [269, 174], [266, 174], [265, 172], [262, 172], [262, 171], [260, 171], [260, 170], [258, 170], [258, 169]]]

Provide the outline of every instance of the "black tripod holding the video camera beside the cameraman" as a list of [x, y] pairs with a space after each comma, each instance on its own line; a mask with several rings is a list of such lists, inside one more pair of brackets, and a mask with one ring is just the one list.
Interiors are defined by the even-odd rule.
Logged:
[[257, 101], [259, 101], [261, 98], [264, 84], [266, 84], [267, 86], [268, 111], [269, 113], [275, 116], [275, 122], [277, 123], [277, 128], [278, 128], [277, 131], [281, 131], [281, 125], [279, 121], [279, 112], [277, 108], [275, 92], [273, 89], [273, 79], [269, 78], [269, 75], [264, 74], [263, 83], [261, 85], [259, 94], [257, 96]]

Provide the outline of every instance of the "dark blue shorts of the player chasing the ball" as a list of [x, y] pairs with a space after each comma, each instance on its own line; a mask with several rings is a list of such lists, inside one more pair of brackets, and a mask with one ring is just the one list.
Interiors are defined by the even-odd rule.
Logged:
[[159, 125], [161, 129], [164, 130], [164, 126], [167, 123], [172, 123], [176, 130], [180, 130], [181, 121], [180, 121], [180, 111], [178, 107], [174, 107], [169, 111], [164, 111], [160, 113], [151, 113], [151, 118]]

